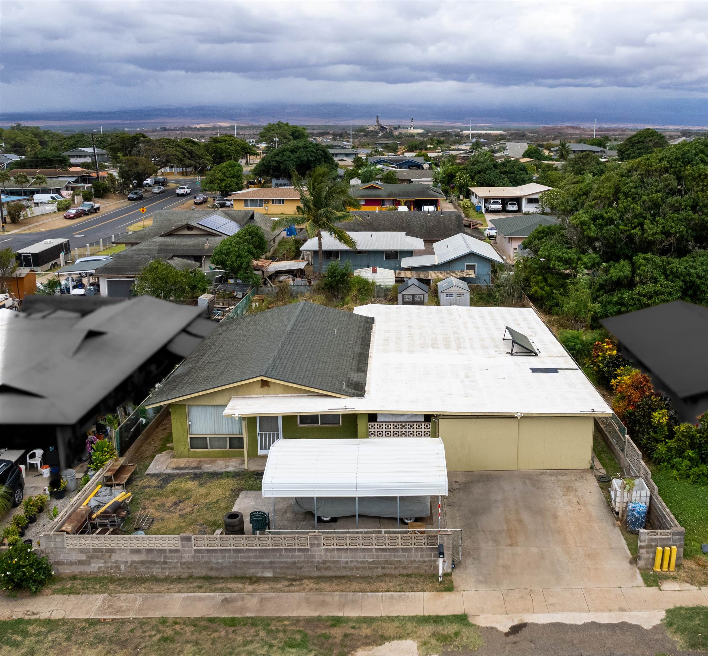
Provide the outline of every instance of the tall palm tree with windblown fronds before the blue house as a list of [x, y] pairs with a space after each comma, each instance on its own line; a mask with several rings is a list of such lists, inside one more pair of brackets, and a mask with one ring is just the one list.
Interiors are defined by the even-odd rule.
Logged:
[[[297, 213], [302, 216], [309, 238], [317, 238], [318, 276], [322, 274], [322, 233], [330, 233], [341, 244], [356, 248], [346, 230], [337, 224], [351, 221], [354, 217], [350, 209], [360, 209], [360, 202], [349, 193], [349, 185], [343, 180], [336, 180], [335, 173], [326, 166], [317, 166], [300, 177], [292, 174], [292, 183], [300, 194]], [[273, 232], [284, 230], [292, 224], [292, 218], [279, 218], [273, 223]]]

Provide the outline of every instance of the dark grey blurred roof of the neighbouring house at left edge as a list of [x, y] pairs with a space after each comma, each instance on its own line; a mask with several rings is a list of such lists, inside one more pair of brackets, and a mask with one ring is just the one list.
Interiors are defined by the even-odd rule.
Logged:
[[[212, 328], [202, 312], [202, 307], [152, 296], [115, 303], [93, 296], [27, 296], [22, 312], [0, 312], [0, 423], [73, 426], [86, 421], [163, 349], [183, 357], [187, 341], [195, 345], [201, 340], [195, 335]], [[163, 359], [171, 368], [169, 353]], [[110, 366], [97, 364], [104, 359]]]

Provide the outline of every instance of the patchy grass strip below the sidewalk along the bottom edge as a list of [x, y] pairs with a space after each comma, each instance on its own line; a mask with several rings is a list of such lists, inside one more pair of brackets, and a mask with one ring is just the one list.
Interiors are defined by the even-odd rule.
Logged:
[[2, 653], [30, 656], [346, 655], [392, 640], [416, 640], [418, 654], [476, 650], [467, 616], [220, 617], [208, 619], [10, 620], [0, 622]]

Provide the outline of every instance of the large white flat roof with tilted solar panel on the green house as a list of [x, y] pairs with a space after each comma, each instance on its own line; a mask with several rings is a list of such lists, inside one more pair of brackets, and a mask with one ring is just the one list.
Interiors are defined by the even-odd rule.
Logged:
[[[362, 305], [354, 312], [375, 319], [364, 397], [233, 397], [224, 414], [611, 413], [530, 308]], [[528, 336], [540, 355], [510, 356], [506, 326]]]

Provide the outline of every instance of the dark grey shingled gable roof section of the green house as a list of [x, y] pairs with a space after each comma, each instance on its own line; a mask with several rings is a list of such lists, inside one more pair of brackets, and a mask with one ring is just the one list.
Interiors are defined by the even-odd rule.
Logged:
[[370, 317], [307, 301], [221, 322], [150, 404], [261, 377], [362, 397], [373, 323]]

